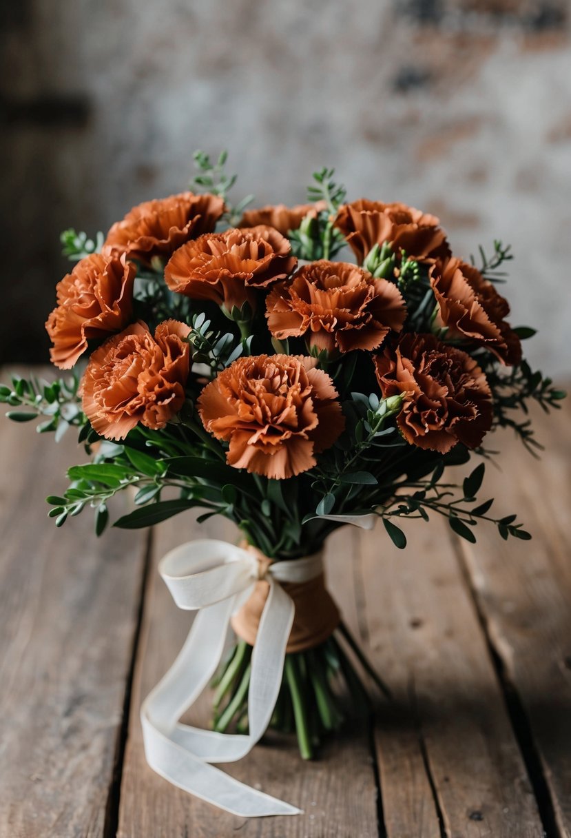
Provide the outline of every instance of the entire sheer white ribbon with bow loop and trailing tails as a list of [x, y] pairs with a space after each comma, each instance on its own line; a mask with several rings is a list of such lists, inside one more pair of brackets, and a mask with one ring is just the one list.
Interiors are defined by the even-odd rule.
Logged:
[[270, 724], [280, 691], [294, 603], [280, 582], [306, 582], [322, 573], [322, 554], [277, 561], [265, 572], [270, 592], [252, 652], [248, 735], [218, 733], [178, 720], [216, 671], [229, 620], [259, 578], [249, 551], [226, 541], [191, 541], [159, 564], [178, 608], [198, 610], [183, 649], [141, 706], [147, 763], [180, 789], [241, 817], [300, 815], [295, 806], [251, 789], [209, 763], [244, 757]]

